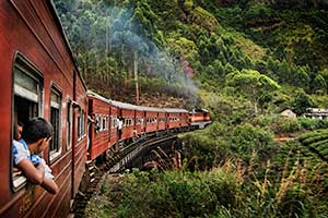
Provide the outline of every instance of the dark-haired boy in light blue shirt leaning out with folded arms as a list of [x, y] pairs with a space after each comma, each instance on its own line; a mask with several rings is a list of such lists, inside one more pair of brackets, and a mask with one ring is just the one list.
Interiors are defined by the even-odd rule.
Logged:
[[58, 186], [51, 169], [37, 156], [49, 145], [52, 136], [51, 124], [43, 118], [34, 118], [23, 129], [22, 138], [13, 141], [13, 160], [16, 168], [34, 184], [39, 184], [47, 192], [56, 194]]

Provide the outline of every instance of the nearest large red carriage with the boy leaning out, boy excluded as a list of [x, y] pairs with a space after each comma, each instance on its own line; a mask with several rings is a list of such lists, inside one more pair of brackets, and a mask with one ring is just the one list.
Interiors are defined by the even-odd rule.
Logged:
[[[66, 217], [86, 158], [86, 88], [49, 0], [0, 1], [0, 217]], [[44, 158], [59, 193], [13, 172], [14, 122], [44, 117], [54, 137]]]

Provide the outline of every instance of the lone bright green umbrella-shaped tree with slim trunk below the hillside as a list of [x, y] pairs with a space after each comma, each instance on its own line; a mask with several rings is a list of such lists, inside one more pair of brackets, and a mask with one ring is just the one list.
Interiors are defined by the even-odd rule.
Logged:
[[227, 75], [226, 85], [248, 98], [254, 106], [255, 114], [262, 96], [280, 88], [278, 83], [255, 70], [243, 70]]

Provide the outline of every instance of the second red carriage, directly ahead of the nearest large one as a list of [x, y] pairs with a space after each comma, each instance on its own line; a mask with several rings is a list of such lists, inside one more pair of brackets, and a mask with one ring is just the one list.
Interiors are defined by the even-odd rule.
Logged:
[[89, 116], [95, 121], [87, 123], [87, 159], [93, 160], [110, 147], [110, 105], [108, 99], [90, 90], [87, 98]]

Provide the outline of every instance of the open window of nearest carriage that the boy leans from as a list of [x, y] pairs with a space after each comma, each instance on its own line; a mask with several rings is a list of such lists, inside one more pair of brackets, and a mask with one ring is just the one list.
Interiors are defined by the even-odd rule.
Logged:
[[[13, 68], [13, 121], [15, 123], [26, 123], [34, 117], [42, 117], [43, 106], [43, 78], [38, 71], [26, 61], [21, 55], [16, 57]], [[13, 135], [16, 135], [16, 129], [13, 128]], [[15, 136], [14, 140], [20, 140]], [[16, 191], [24, 186], [26, 178], [22, 172], [15, 168], [13, 160], [12, 168], [12, 184], [13, 190]]]

